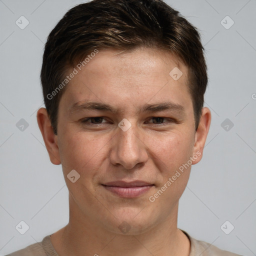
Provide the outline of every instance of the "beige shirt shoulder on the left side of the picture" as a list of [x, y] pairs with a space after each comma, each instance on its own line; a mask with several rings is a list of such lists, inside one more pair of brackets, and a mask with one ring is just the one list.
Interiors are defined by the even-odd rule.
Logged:
[[47, 235], [42, 239], [41, 242], [30, 244], [23, 249], [16, 250], [5, 256], [58, 256], [58, 255], [50, 242], [50, 235]]

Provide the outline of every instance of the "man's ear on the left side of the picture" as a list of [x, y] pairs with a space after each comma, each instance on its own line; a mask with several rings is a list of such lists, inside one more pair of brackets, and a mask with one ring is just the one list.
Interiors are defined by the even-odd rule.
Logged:
[[53, 132], [48, 113], [44, 107], [38, 109], [36, 118], [39, 129], [42, 133], [44, 144], [50, 157], [50, 161], [53, 164], [60, 164], [61, 161], [57, 144], [57, 135], [55, 135]]

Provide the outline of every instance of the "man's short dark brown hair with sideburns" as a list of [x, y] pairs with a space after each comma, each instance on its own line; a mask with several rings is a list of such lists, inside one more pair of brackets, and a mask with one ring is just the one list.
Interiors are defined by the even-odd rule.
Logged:
[[207, 85], [204, 49], [197, 29], [162, 0], [92, 0], [69, 9], [45, 43], [40, 78], [55, 134], [65, 87], [56, 88], [65, 79], [67, 68], [95, 49], [132, 50], [140, 46], [169, 51], [188, 67], [187, 84], [197, 129]]

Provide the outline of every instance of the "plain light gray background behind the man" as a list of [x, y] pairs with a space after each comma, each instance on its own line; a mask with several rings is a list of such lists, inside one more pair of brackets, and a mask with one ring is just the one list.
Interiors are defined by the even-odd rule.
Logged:
[[[43, 106], [46, 37], [80, 2], [0, 0], [1, 255], [41, 241], [68, 221], [61, 166], [49, 161], [36, 110]], [[256, 255], [256, 1], [166, 2], [201, 33], [209, 75], [205, 106], [212, 113], [203, 158], [192, 166], [180, 199], [178, 227], [222, 249]], [[21, 15], [29, 21], [24, 29], [15, 24]], [[229, 29], [223, 25], [230, 19], [221, 22], [226, 15], [234, 21]], [[29, 124], [23, 131], [16, 126], [21, 118]], [[221, 126], [226, 118], [233, 127], [230, 121]], [[29, 226], [23, 235], [15, 229], [21, 220]], [[226, 220], [234, 226], [229, 234], [220, 228]]]

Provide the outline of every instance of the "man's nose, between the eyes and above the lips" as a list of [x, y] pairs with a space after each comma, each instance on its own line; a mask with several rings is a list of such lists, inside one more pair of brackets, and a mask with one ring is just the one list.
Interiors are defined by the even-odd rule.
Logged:
[[148, 154], [146, 145], [142, 140], [141, 131], [139, 132], [135, 123], [126, 130], [117, 127], [110, 149], [110, 161], [113, 165], [122, 165], [130, 170], [137, 164], [143, 165]]

